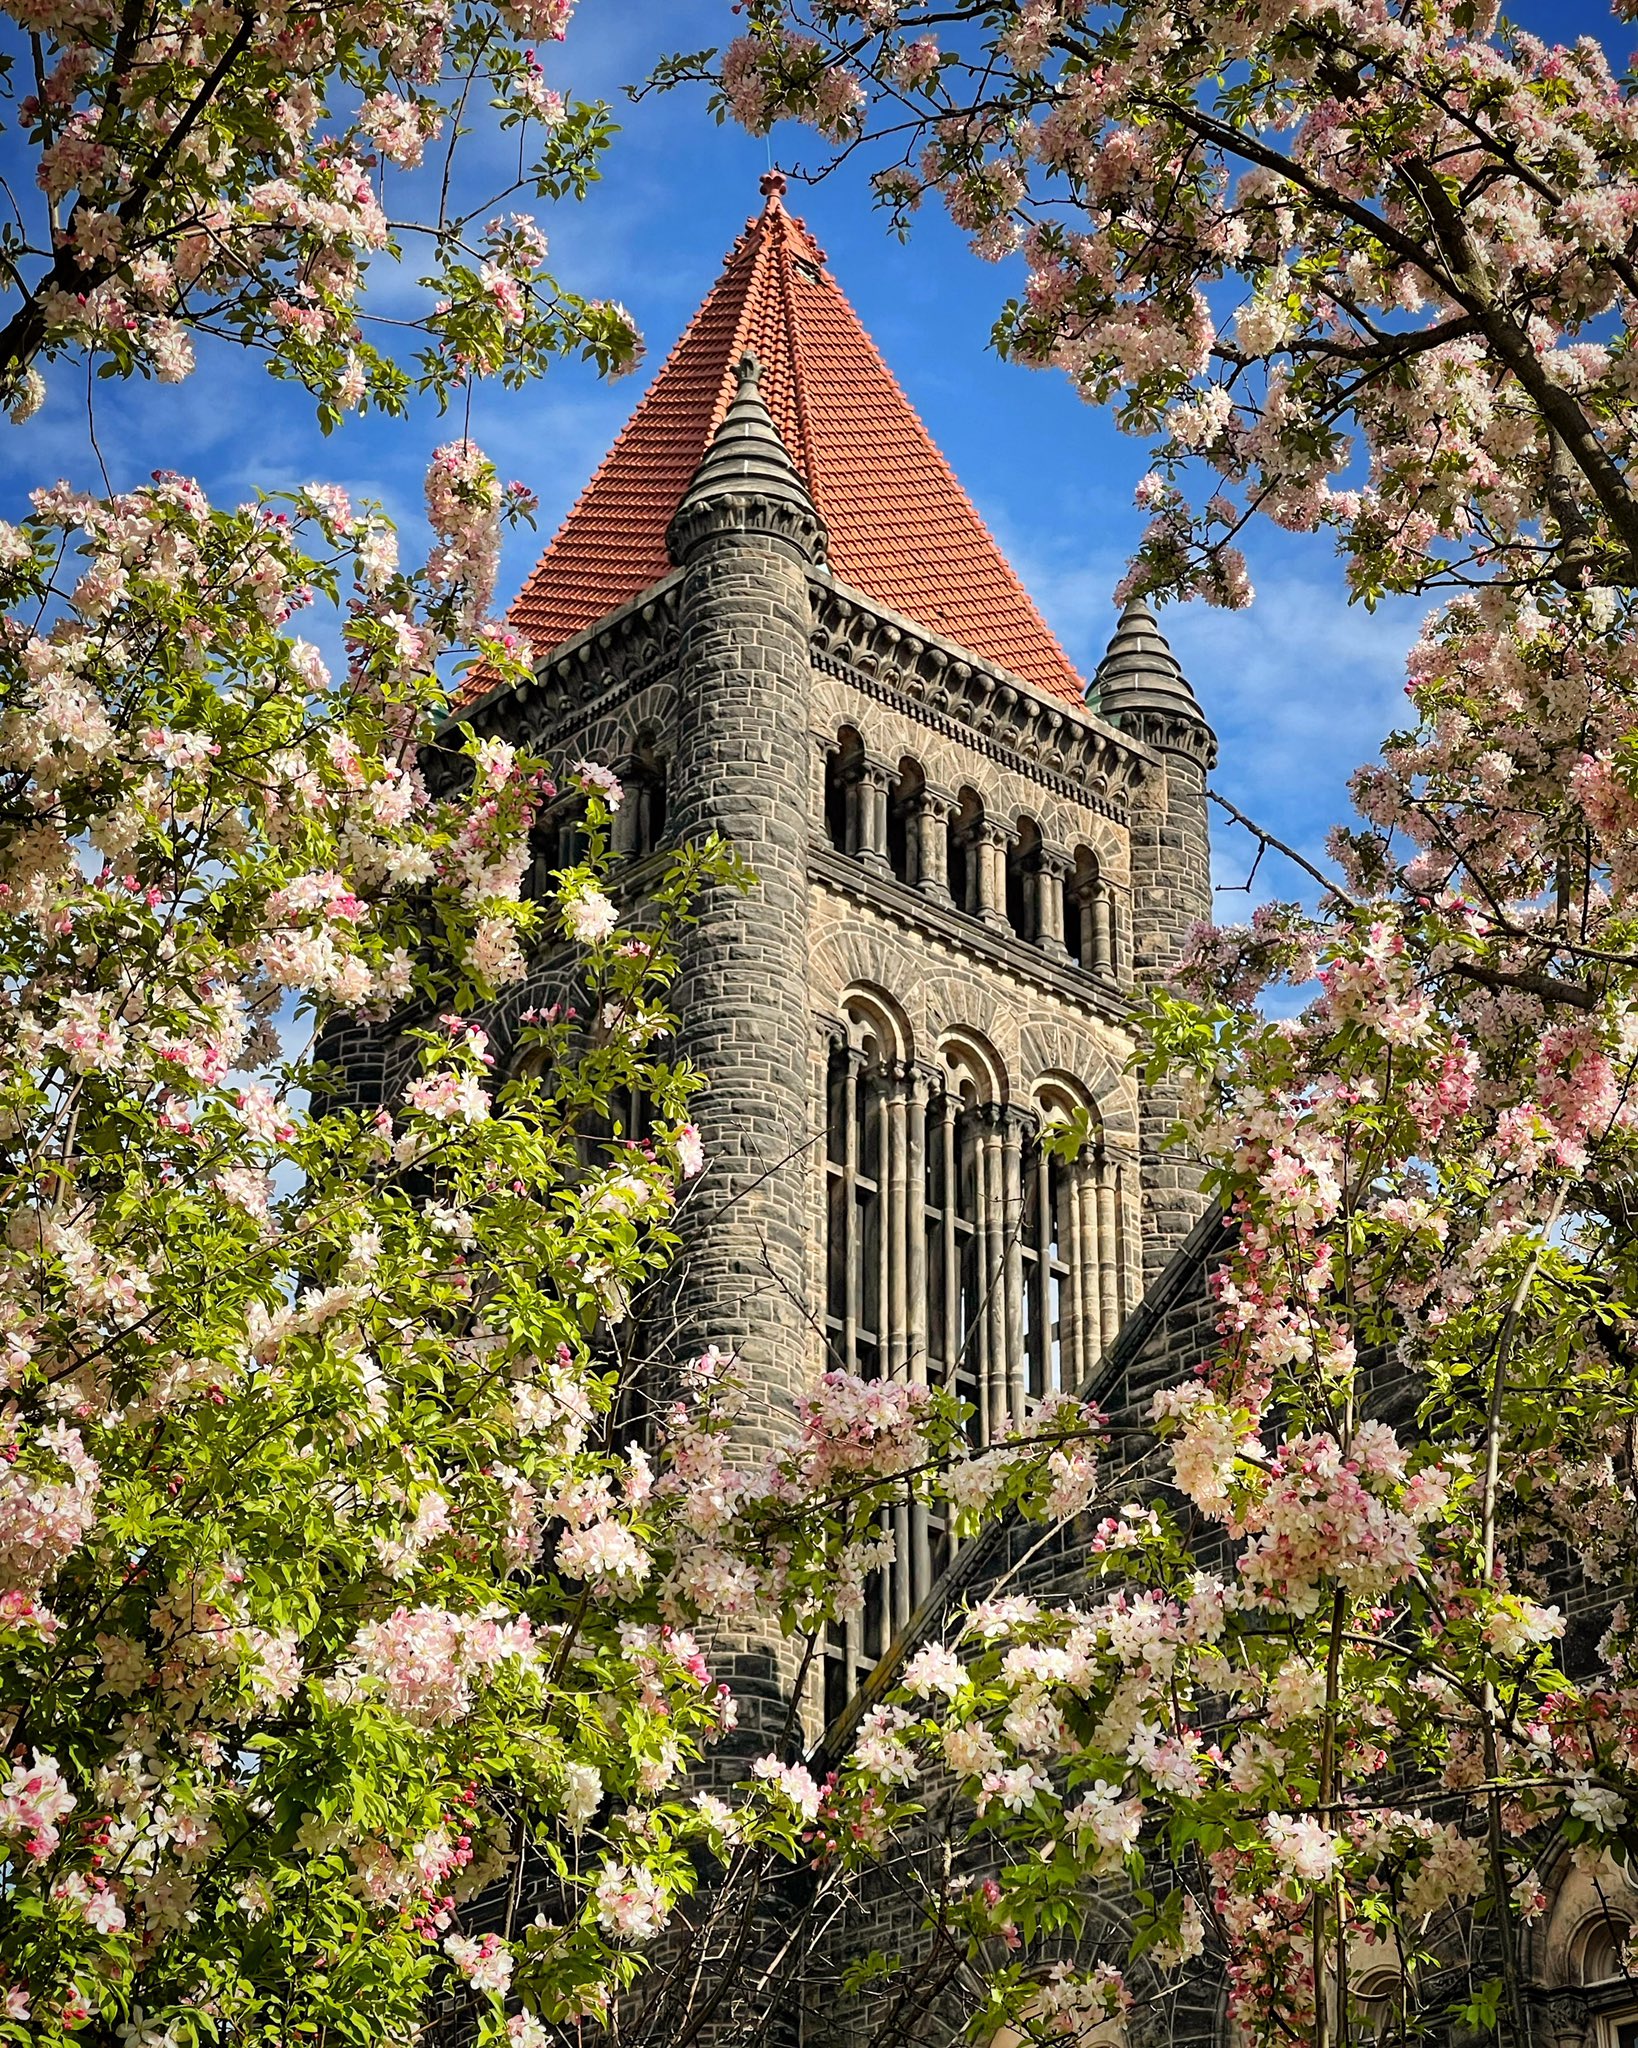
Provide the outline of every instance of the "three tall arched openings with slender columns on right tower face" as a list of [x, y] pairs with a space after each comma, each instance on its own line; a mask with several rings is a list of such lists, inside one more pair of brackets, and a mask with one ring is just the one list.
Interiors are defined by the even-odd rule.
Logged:
[[[952, 1389], [975, 1446], [1087, 1382], [1132, 1307], [1130, 1163], [1067, 1073], [1011, 1098], [995, 1049], [944, 1032], [915, 1055], [903, 1010], [852, 985], [825, 1022], [825, 1352], [864, 1378]], [[1077, 1122], [1073, 1159], [1048, 1143]], [[950, 1559], [946, 1526], [895, 1509], [893, 1563], [833, 1630], [827, 1708], [852, 1698]]]

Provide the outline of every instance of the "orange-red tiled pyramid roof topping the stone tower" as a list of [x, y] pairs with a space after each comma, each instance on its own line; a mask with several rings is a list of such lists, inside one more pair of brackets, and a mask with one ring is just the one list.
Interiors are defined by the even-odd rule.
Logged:
[[735, 365], [762, 395], [831, 532], [835, 573], [889, 610], [1079, 705], [1081, 678], [938, 453], [825, 254], [764, 178], [747, 223], [602, 467], [518, 592], [538, 655], [665, 575], [665, 526], [727, 412]]

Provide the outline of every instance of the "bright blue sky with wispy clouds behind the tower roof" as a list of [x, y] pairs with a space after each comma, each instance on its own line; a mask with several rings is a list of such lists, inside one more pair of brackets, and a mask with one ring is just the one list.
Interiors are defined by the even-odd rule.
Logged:
[[[1593, 6], [1550, 4], [1525, 14], [1554, 39], [1609, 25]], [[567, 43], [545, 53], [553, 84], [614, 100], [622, 121], [592, 199], [545, 215], [553, 266], [575, 291], [622, 299], [649, 358], [637, 379], [616, 385], [563, 365], [528, 391], [479, 393], [473, 434], [506, 475], [538, 492], [541, 539], [577, 496], [760, 205], [760, 172], [770, 160], [799, 172], [817, 156], [803, 131], [780, 131], [766, 143], [713, 125], [702, 94], [624, 104], [622, 88], [641, 80], [657, 53], [717, 43], [733, 29], [729, 0], [579, 0]], [[1624, 47], [1628, 33], [1618, 35], [1615, 47]], [[481, 168], [481, 156], [471, 154], [469, 176]], [[934, 438], [1089, 674], [1114, 625], [1110, 588], [1138, 537], [1132, 485], [1147, 469], [1143, 442], [1118, 434], [1067, 381], [991, 354], [989, 328], [1016, 281], [1007, 266], [977, 262], [936, 209], [925, 209], [901, 246], [872, 211], [862, 168], [815, 188], [792, 176], [788, 203], [817, 233]], [[375, 303], [391, 291], [383, 281]], [[426, 457], [452, 432], [428, 406], [407, 424], [354, 422], [324, 440], [305, 393], [270, 381], [258, 362], [225, 346], [203, 350], [199, 373], [178, 387], [100, 385], [94, 424], [115, 487], [156, 467], [197, 475], [223, 502], [256, 487], [330, 479], [383, 500], [412, 541]], [[100, 481], [82, 377], [55, 373], [41, 414], [25, 428], [0, 422], [0, 512], [14, 516], [29, 487], [57, 475]], [[512, 537], [504, 594], [526, 573], [534, 545], [526, 530]], [[1249, 612], [1186, 606], [1169, 610], [1163, 625], [1218, 731], [1218, 786], [1319, 854], [1327, 827], [1347, 813], [1349, 770], [1398, 719], [1403, 653], [1425, 606], [1349, 608], [1323, 539], [1263, 528], [1247, 553], [1257, 586]], [[1243, 836], [1220, 829], [1218, 883], [1243, 883], [1247, 866]], [[1298, 879], [1265, 862], [1257, 897], [1263, 893], [1294, 895]], [[1220, 915], [1241, 915], [1247, 901], [1226, 893]]]

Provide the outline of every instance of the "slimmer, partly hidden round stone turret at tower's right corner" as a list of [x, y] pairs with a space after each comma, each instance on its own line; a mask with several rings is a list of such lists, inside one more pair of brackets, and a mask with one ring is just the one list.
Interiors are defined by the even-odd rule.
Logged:
[[[1165, 766], [1132, 805], [1132, 971], [1138, 987], [1165, 983], [1190, 930], [1212, 915], [1212, 842], [1206, 776], [1216, 735], [1155, 614], [1132, 598], [1097, 664], [1102, 717], [1153, 748]], [[1143, 1180], [1143, 1272], [1153, 1280], [1202, 1210], [1200, 1174], [1163, 1141], [1177, 1116], [1169, 1081], [1145, 1085], [1138, 1102]]]

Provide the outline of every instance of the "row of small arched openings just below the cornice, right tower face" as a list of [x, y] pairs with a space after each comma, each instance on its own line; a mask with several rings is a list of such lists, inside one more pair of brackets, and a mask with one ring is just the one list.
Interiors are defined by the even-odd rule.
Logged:
[[850, 725], [825, 750], [825, 834], [862, 868], [1052, 961], [1112, 979], [1124, 971], [1118, 891], [1091, 846], [1048, 846], [1036, 819], [989, 815], [979, 791], [938, 788], [911, 756], [872, 756]]

